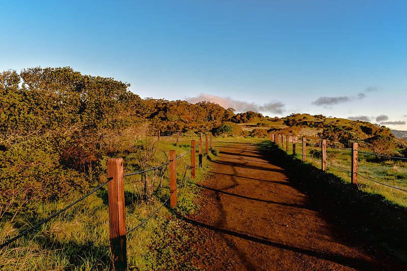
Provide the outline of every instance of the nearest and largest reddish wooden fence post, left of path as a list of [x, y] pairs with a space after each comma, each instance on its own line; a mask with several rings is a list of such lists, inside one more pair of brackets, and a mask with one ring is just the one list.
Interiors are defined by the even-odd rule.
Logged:
[[114, 270], [126, 270], [126, 220], [124, 205], [123, 158], [107, 160], [110, 253]]

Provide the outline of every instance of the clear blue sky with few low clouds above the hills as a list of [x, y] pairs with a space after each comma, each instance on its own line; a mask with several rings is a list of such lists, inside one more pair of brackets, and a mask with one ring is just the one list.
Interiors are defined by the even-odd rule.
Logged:
[[69, 66], [142, 98], [407, 130], [406, 11], [397, 0], [8, 1], [0, 71]]

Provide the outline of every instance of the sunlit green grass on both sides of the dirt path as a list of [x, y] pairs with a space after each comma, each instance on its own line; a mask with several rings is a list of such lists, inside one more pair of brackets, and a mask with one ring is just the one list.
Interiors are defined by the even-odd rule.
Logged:
[[[124, 158], [125, 174], [161, 165], [168, 160], [168, 151], [175, 149], [177, 157], [177, 179], [179, 184], [190, 173], [191, 140], [197, 137], [180, 138], [175, 144], [176, 137], [162, 137], [143, 139], [140, 152], [124, 150], [114, 157]], [[236, 137], [217, 138], [215, 145], [227, 145], [232, 142], [249, 142], [258, 144], [265, 139], [245, 139]], [[292, 154], [292, 143], [289, 144], [288, 154]], [[285, 149], [285, 145], [284, 145]], [[198, 148], [196, 148], [196, 152]], [[318, 147], [307, 147], [307, 156], [319, 160]], [[205, 144], [203, 146], [205, 152]], [[216, 153], [216, 151], [214, 152]], [[302, 144], [296, 145], [297, 158], [301, 158]], [[350, 150], [328, 148], [328, 163], [345, 170], [351, 169]], [[215, 159], [212, 153], [209, 160]], [[198, 155], [195, 154], [196, 163]], [[321, 162], [307, 159], [307, 163], [317, 168]], [[129, 270], [168, 269], [183, 266], [184, 269], [195, 270], [194, 266], [182, 265], [182, 255], [178, 255], [171, 247], [165, 246], [171, 242], [171, 235], [180, 234], [177, 230], [177, 214], [190, 214], [199, 206], [194, 198], [199, 196], [199, 188], [195, 182], [205, 178], [209, 162], [204, 160], [203, 168], [197, 168], [196, 179], [188, 178], [187, 185], [178, 190], [178, 206], [170, 209], [164, 205], [156, 215], [141, 227], [127, 235], [127, 257]], [[359, 154], [359, 173], [390, 186], [407, 190], [407, 163], [392, 160], [377, 161], [374, 156]], [[333, 173], [350, 183], [350, 173], [328, 165], [328, 172]], [[95, 185], [96, 187], [96, 185]], [[371, 182], [359, 176], [358, 189], [371, 194], [383, 195], [388, 202], [407, 206], [407, 192], [399, 191]], [[80, 195], [78, 195], [79, 197]], [[125, 178], [126, 228], [130, 229], [147, 219], [169, 196], [168, 171], [155, 170], [143, 178], [134, 175]], [[77, 197], [77, 198], [78, 198]], [[34, 212], [17, 214], [13, 219], [0, 221], [0, 244], [17, 235], [20, 230], [27, 229], [39, 221], [67, 206], [71, 201], [52, 203], [37, 203]], [[178, 236], [183, 240], [185, 236]], [[18, 239], [6, 248], [0, 250], [1, 270], [90, 270], [100, 259], [96, 270], [108, 270], [110, 256], [109, 246], [109, 217], [107, 186], [92, 194], [65, 213], [43, 224], [38, 229]], [[179, 247], [181, 247], [180, 244]], [[177, 246], [175, 246], [177, 247]], [[187, 253], [187, 250], [182, 253]], [[184, 254], [185, 255], [185, 254]], [[171, 267], [172, 266], [172, 267]]]

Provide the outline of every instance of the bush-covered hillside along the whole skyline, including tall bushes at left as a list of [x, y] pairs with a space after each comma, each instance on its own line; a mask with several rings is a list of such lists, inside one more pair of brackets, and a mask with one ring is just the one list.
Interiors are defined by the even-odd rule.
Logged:
[[[100, 182], [105, 158], [123, 151], [125, 142], [119, 138], [131, 142], [158, 131], [257, 138], [273, 132], [305, 135], [315, 141], [326, 138], [344, 147], [384, 137], [391, 141], [386, 152], [405, 148], [405, 142], [395, 140], [390, 129], [368, 122], [310, 114], [282, 118], [253, 111], [235, 114], [233, 108], [208, 101], [141, 99], [129, 86], [113, 78], [82, 75], [69, 67], [0, 73], [0, 180], [4, 186], [0, 203], [16, 189], [21, 201], [30, 197], [54, 200], [89, 189]], [[60, 175], [62, 182], [55, 178]], [[14, 185], [16, 178], [19, 183]], [[32, 185], [42, 179], [50, 181]]]

